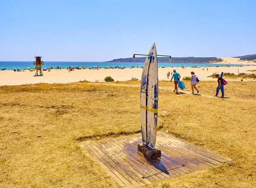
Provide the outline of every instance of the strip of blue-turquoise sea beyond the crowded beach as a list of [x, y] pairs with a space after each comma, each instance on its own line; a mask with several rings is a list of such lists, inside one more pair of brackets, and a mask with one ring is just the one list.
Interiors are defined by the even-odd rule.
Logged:
[[[125, 68], [131, 68], [134, 66], [134, 68], [143, 66], [144, 63], [117, 63], [117, 62], [89, 62], [89, 61], [44, 61], [44, 65], [42, 65], [42, 68], [49, 68], [52, 67], [55, 69], [56, 67], [60, 67], [61, 69], [67, 69], [68, 67], [99, 67], [99, 68], [105, 68], [105, 67], [125, 67]], [[215, 67], [215, 66], [241, 66], [237, 64], [196, 64], [196, 63], [158, 63], [158, 67]], [[35, 67], [33, 65], [33, 61], [0, 61], [0, 69], [6, 68], [6, 70], [12, 70], [15, 69], [27, 69], [27, 68], [33, 68]]]

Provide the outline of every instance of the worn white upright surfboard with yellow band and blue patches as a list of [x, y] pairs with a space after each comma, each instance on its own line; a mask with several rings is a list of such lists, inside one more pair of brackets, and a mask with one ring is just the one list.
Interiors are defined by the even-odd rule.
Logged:
[[155, 43], [148, 52], [140, 85], [140, 121], [143, 144], [155, 148], [158, 112], [158, 70]]

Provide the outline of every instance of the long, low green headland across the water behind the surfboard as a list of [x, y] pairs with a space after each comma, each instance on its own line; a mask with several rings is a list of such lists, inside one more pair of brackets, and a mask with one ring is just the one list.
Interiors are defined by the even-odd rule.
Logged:
[[[169, 61], [169, 58], [163, 58], [159, 57], [157, 58], [158, 63], [183, 63], [183, 64], [188, 64], [188, 63], [198, 63], [198, 64], [203, 64], [203, 63], [213, 63], [213, 62], [221, 62], [221, 58], [195, 58], [195, 57], [187, 57], [187, 58], [172, 58], [172, 61]], [[119, 59], [113, 59], [111, 61], [105, 61], [105, 62], [122, 62], [122, 63], [134, 63], [133, 58], [119, 58]], [[145, 57], [143, 58], [136, 58], [135, 62], [137, 63], [144, 63], [145, 62]]]

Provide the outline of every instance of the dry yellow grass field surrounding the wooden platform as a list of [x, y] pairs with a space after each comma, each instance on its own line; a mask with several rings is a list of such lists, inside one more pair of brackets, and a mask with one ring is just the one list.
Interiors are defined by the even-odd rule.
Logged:
[[[256, 84], [230, 81], [224, 99], [216, 84], [160, 81], [158, 127], [233, 161], [148, 188], [256, 187]], [[0, 87], [0, 187], [118, 188], [79, 143], [140, 132], [139, 95], [139, 81]]]

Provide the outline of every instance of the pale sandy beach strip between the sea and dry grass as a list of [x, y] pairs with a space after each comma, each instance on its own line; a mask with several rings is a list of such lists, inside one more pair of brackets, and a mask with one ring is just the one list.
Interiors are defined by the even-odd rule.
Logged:
[[[207, 68], [181, 68], [181, 67], [166, 67], [159, 68], [158, 75], [159, 80], [168, 80], [167, 72], [172, 72], [173, 69], [176, 69], [177, 72], [180, 73], [181, 78], [186, 76], [191, 76], [190, 72], [194, 71], [195, 74], [202, 81], [213, 80], [212, 78], [207, 78], [207, 76], [212, 75], [215, 72], [230, 72], [238, 74], [245, 72], [250, 73], [248, 70], [256, 69], [256, 66], [244, 66], [244, 67], [208, 67]], [[115, 81], [128, 81], [131, 80], [132, 77], [138, 78], [140, 80], [141, 68], [137, 69], [81, 69], [68, 71], [67, 69], [52, 69], [50, 72], [43, 71], [44, 76], [35, 76], [35, 71], [30, 72], [29, 70], [25, 70], [24, 72], [14, 72], [12, 70], [0, 71], [0, 85], [21, 85], [21, 84], [38, 84], [38, 83], [71, 83], [77, 81], [104, 81], [106, 76], [111, 76]], [[170, 76], [171, 78], [171, 76]]]

